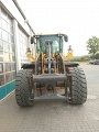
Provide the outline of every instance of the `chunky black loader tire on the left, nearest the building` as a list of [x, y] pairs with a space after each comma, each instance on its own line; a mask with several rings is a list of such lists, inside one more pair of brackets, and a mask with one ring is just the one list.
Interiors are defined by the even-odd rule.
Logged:
[[31, 69], [22, 69], [16, 74], [15, 79], [15, 100], [21, 107], [29, 107], [34, 105], [34, 95], [30, 89], [28, 76], [32, 75]]

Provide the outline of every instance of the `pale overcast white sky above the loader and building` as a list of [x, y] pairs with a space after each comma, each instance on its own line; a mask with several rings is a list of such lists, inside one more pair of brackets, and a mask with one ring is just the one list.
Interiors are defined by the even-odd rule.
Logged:
[[16, 0], [35, 33], [68, 35], [74, 55], [87, 55], [86, 42], [99, 37], [99, 0]]

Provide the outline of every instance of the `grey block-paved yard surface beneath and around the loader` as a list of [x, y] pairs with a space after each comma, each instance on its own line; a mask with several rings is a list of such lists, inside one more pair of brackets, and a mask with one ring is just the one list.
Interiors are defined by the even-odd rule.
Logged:
[[0, 101], [0, 132], [99, 132], [99, 65], [80, 64], [85, 70], [88, 99], [84, 105], [37, 101], [21, 108], [14, 91]]

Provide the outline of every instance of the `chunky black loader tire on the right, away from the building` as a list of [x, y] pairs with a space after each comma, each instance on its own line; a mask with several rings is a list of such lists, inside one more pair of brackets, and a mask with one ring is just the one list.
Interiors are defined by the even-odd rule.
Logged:
[[70, 67], [70, 100], [72, 105], [82, 105], [87, 100], [87, 81], [82, 68]]

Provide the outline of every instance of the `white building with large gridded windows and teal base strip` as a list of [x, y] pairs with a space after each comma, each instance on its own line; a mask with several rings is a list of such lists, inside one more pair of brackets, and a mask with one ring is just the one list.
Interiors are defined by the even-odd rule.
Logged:
[[15, 75], [34, 34], [15, 0], [0, 1], [0, 100], [14, 90]]

